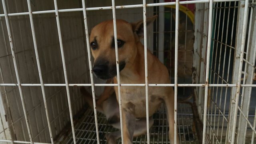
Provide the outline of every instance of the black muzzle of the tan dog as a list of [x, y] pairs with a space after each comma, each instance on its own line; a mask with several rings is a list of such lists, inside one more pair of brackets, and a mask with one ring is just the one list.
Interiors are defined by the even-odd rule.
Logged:
[[[125, 62], [119, 63], [119, 72], [123, 70], [125, 67]], [[100, 60], [96, 61], [94, 63], [94, 67], [92, 68], [92, 71], [96, 75], [97, 78], [100, 79], [108, 79], [113, 78], [117, 75], [116, 73], [116, 64], [110, 64], [108, 61]]]

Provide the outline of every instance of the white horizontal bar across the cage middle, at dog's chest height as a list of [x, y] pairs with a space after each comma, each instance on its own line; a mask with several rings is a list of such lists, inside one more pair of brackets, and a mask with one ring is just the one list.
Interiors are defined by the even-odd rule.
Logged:
[[[146, 84], [120, 84], [121, 86], [146, 86]], [[18, 86], [18, 84], [0, 84]], [[21, 86], [41, 86], [41, 84], [21, 84]], [[66, 86], [66, 84], [44, 84], [44, 86]], [[92, 84], [68, 84], [68, 86], [92, 86]], [[118, 84], [94, 84], [94, 86], [118, 86]], [[174, 84], [148, 84], [148, 86], [174, 86]], [[178, 84], [178, 86], [205, 86], [205, 84]], [[214, 87], [236, 87], [236, 84], [209, 84]], [[256, 87], [256, 84], [241, 84], [242, 87]]]

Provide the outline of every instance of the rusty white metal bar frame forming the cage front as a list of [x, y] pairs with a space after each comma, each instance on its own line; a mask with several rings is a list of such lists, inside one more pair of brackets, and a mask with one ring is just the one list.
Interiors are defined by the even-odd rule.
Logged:
[[[125, 5], [125, 6], [116, 6], [115, 5], [115, 1], [112, 0], [112, 6], [106, 6], [106, 7], [90, 7], [87, 8], [85, 5], [85, 1], [82, 1], [82, 8], [72, 8], [72, 9], [58, 9], [57, 6], [57, 0], [54, 0], [54, 10], [45, 10], [45, 11], [32, 11], [31, 10], [31, 4], [30, 4], [30, 0], [27, 0], [27, 4], [28, 4], [28, 12], [20, 12], [20, 13], [8, 13], [6, 10], [6, 1], [2, 0], [2, 6], [3, 6], [3, 10], [4, 10], [4, 14], [0, 14], [0, 17], [5, 18], [6, 21], [6, 28], [8, 31], [8, 36], [9, 36], [9, 41], [10, 41], [10, 48], [11, 48], [11, 52], [12, 52], [12, 58], [13, 58], [13, 64], [14, 64], [14, 68], [15, 68], [15, 74], [16, 74], [16, 78], [17, 78], [17, 83], [0, 83], [1, 87], [7, 87], [7, 86], [17, 86], [19, 89], [19, 94], [20, 94], [20, 98], [22, 100], [22, 108], [23, 108], [23, 112], [24, 112], [24, 116], [26, 119], [26, 128], [28, 130], [28, 134], [29, 134], [29, 138], [30, 141], [29, 142], [25, 142], [25, 141], [17, 141], [14, 140], [14, 138], [12, 138], [12, 134], [10, 134], [10, 140], [0, 140], [0, 142], [10, 142], [11, 144], [14, 143], [27, 143], [27, 144], [46, 144], [46, 143], [40, 143], [40, 142], [34, 142], [32, 135], [31, 135], [31, 126], [30, 123], [28, 121], [28, 116], [27, 116], [27, 110], [26, 110], [26, 106], [24, 103], [24, 96], [22, 93], [22, 87], [25, 86], [38, 86], [41, 87], [42, 90], [42, 96], [43, 96], [43, 100], [44, 100], [44, 108], [45, 108], [45, 112], [46, 112], [46, 118], [47, 118], [47, 123], [48, 123], [48, 130], [49, 130], [49, 137], [51, 140], [51, 144], [54, 144], [54, 138], [53, 138], [53, 134], [52, 134], [52, 127], [50, 125], [50, 119], [49, 119], [49, 108], [47, 107], [47, 100], [46, 100], [46, 94], [45, 94], [45, 90], [44, 88], [47, 86], [62, 86], [66, 88], [66, 94], [67, 94], [67, 98], [68, 98], [68, 108], [69, 108], [69, 114], [70, 114], [70, 122], [71, 122], [71, 127], [72, 127], [72, 135], [73, 135], [73, 142], [74, 144], [76, 144], [76, 135], [75, 135], [75, 131], [74, 131], [74, 122], [73, 122], [73, 114], [72, 114], [72, 106], [71, 106], [71, 102], [70, 102], [70, 86], [90, 86], [92, 88], [92, 96], [93, 96], [93, 104], [94, 104], [94, 118], [95, 118], [95, 126], [96, 126], [96, 136], [97, 136], [97, 143], [100, 144], [100, 140], [99, 140], [99, 131], [98, 131], [98, 119], [97, 119], [97, 112], [96, 112], [96, 102], [95, 102], [95, 92], [94, 92], [94, 87], [95, 86], [118, 86], [118, 97], [119, 97], [119, 104], [120, 104], [120, 122], [122, 123], [122, 103], [120, 100], [120, 87], [121, 86], [145, 86], [146, 87], [146, 111], [147, 111], [147, 142], [150, 143], [150, 138], [149, 138], [149, 123], [148, 123], [148, 86], [172, 86], [174, 87], [174, 96], [175, 96], [175, 103], [174, 103], [174, 120], [175, 120], [175, 125], [174, 125], [174, 138], [175, 138], [175, 143], [176, 143], [176, 135], [177, 135], [177, 88], [180, 86], [183, 87], [188, 87], [188, 86], [193, 86], [196, 87], [197, 92], [198, 92], [198, 111], [200, 114], [203, 114], [201, 116], [202, 120], [203, 120], [203, 138], [202, 138], [202, 143], [208, 143], [208, 137], [207, 137], [207, 130], [206, 128], [208, 128], [208, 124], [209, 121], [207, 120], [207, 105], [208, 105], [208, 94], [209, 94], [209, 87], [231, 87], [232, 88], [232, 99], [231, 99], [231, 107], [230, 107], [230, 114], [229, 114], [229, 118], [228, 118], [228, 137], [226, 138], [226, 143], [230, 143], [230, 144], [234, 144], [236, 143], [235, 137], [236, 137], [236, 124], [238, 123], [237, 120], [237, 114], [238, 111], [240, 112], [240, 115], [243, 116], [245, 119], [241, 119], [239, 118], [239, 124], [248, 124], [250, 126], [250, 128], [253, 130], [253, 136], [252, 136], [252, 143], [254, 141], [254, 134], [256, 134], [256, 130], [255, 130], [255, 126], [256, 126], [256, 118], [254, 118], [254, 123], [251, 124], [248, 119], [246, 119], [246, 116], [248, 115], [248, 113], [246, 114], [247, 110], [248, 110], [248, 106], [246, 105], [246, 103], [244, 103], [244, 106], [238, 106], [239, 105], [239, 98], [240, 98], [240, 89], [242, 88], [242, 91], [244, 91], [244, 89], [249, 89], [249, 93], [246, 93], [245, 95], [250, 96], [250, 89], [252, 89], [252, 87], [256, 87], [256, 84], [252, 84], [252, 77], [253, 77], [253, 72], [255, 70], [255, 49], [256, 49], [256, 42], [255, 42], [255, 38], [256, 38], [256, 33], [252, 33], [252, 36], [250, 37], [252, 40], [248, 40], [248, 42], [250, 43], [250, 46], [252, 48], [247, 48], [247, 52], [246, 52], [246, 56], [248, 56], [247, 54], [250, 54], [250, 52], [248, 50], [251, 50], [251, 54], [250, 54], [250, 60], [248, 59], [244, 59], [244, 50], [245, 50], [245, 43], [246, 43], [246, 30], [247, 30], [247, 15], [248, 15], [248, 7], [249, 7], [249, 0], [191, 0], [191, 1], [179, 1], [176, 0], [176, 2], [162, 2], [162, 3], [150, 3], [147, 4], [146, 0], [143, 0], [143, 4], [136, 4], [136, 5]], [[233, 83], [232, 84], [210, 84], [209, 83], [209, 73], [210, 73], [210, 51], [211, 51], [211, 41], [212, 41], [212, 28], [213, 28], [213, 23], [212, 23], [212, 17], [213, 17], [213, 3], [214, 2], [232, 2], [232, 1], [237, 1], [240, 3], [240, 7], [239, 7], [239, 21], [238, 21], [238, 30], [241, 31], [241, 34], [238, 36], [237, 40], [237, 45], [236, 45], [236, 59], [235, 59], [235, 66], [238, 66], [238, 70], [234, 73], [233, 75]], [[197, 4], [197, 8], [199, 8], [200, 6], [204, 5], [207, 15], [200, 15], [199, 11], [196, 11], [196, 17], [195, 17], [195, 22], [202, 22], [202, 20], [206, 20], [204, 21], [204, 30], [203, 30], [203, 34], [206, 34], [206, 36], [204, 36], [203, 38], [203, 46], [204, 48], [204, 52], [206, 53], [206, 56], [204, 57], [204, 65], [201, 65], [201, 71], [200, 73], [198, 73], [198, 75], [202, 74], [201, 76], [198, 76], [198, 83], [192, 83], [192, 84], [178, 84], [178, 76], [177, 76], [177, 68], [178, 68], [178, 18], [179, 18], [179, 5], [180, 4]], [[143, 8], [143, 20], [144, 20], [144, 57], [145, 59], [147, 58], [147, 33], [146, 33], [146, 8], [147, 7], [152, 7], [152, 6], [170, 6], [170, 5], [175, 5], [176, 6], [176, 25], [175, 25], [175, 69], [174, 69], [174, 84], [148, 84], [148, 68], [147, 68], [147, 61], [145, 60], [145, 83], [144, 84], [120, 84], [120, 76], [119, 76], [119, 65], [118, 65], [118, 48], [117, 48], [117, 36], [116, 36], [116, 9], [124, 9], [124, 8]], [[115, 40], [115, 50], [116, 50], [116, 65], [117, 65], [117, 80], [118, 80], [118, 84], [95, 84], [94, 83], [94, 78], [92, 75], [92, 63], [91, 63], [91, 55], [90, 55], [90, 44], [89, 44], [89, 34], [88, 34], [88, 21], [87, 21], [87, 17], [86, 17], [86, 12], [90, 11], [90, 10], [112, 10], [112, 14], [113, 14], [113, 22], [114, 22], [114, 40]], [[198, 9], [197, 9], [198, 10]], [[68, 77], [67, 77], [67, 69], [66, 69], [66, 63], [65, 63], [65, 58], [64, 58], [64, 49], [63, 49], [63, 42], [62, 42], [62, 34], [61, 34], [61, 28], [60, 28], [60, 20], [59, 20], [59, 13], [62, 12], [83, 12], [83, 16], [84, 16], [84, 32], [86, 35], [86, 46], [87, 46], [87, 51], [88, 51], [88, 65], [89, 65], [89, 70], [90, 70], [90, 81], [91, 83], [88, 84], [70, 84], [68, 82]], [[255, 21], [255, 10], [251, 10], [250, 11], [251, 14], [251, 21], [253, 21], [250, 24], [250, 29], [256, 30], [256, 21]], [[59, 42], [60, 42], [60, 50], [61, 50], [61, 56], [62, 56], [62, 64], [63, 64], [63, 71], [64, 71], [64, 78], [65, 78], [65, 83], [62, 84], [47, 84], [43, 81], [42, 78], [42, 70], [41, 70], [41, 66], [40, 66], [40, 61], [39, 61], [39, 56], [38, 56], [38, 48], [37, 48], [37, 41], [36, 41], [36, 36], [35, 36], [35, 30], [34, 30], [34, 22], [33, 22], [33, 15], [35, 14], [46, 14], [46, 13], [55, 13], [56, 15], [56, 24], [57, 24], [57, 28], [58, 28], [58, 36], [59, 36]], [[198, 14], [198, 15], [197, 15]], [[31, 26], [31, 31], [32, 31], [32, 37], [33, 37], [33, 43], [34, 43], [34, 50], [35, 50], [35, 54], [36, 54], [36, 63], [37, 63], [37, 68], [38, 68], [38, 75], [40, 78], [40, 83], [34, 83], [34, 84], [28, 84], [28, 83], [21, 83], [20, 82], [20, 76], [19, 76], [19, 71], [17, 68], [17, 59], [16, 59], [16, 55], [14, 53], [14, 46], [13, 46], [13, 39], [12, 39], [12, 32], [10, 30], [10, 24], [9, 24], [9, 18], [11, 16], [21, 16], [21, 15], [29, 15], [30, 18], [30, 26]], [[204, 19], [202, 19], [203, 17], [200, 16], [204, 16]], [[253, 17], [254, 16], [254, 17]], [[199, 25], [195, 26], [195, 43], [194, 43], [194, 50], [198, 50], [197, 48], [199, 48], [200, 46], [198, 44], [201, 44], [201, 38], [200, 38], [200, 27]], [[253, 41], [254, 38], [254, 41]], [[248, 45], [249, 47], [249, 45]], [[247, 58], [247, 57], [246, 57]], [[201, 60], [199, 58], [194, 58], [194, 60], [196, 61], [196, 63], [194, 64], [198, 64], [201, 62]], [[243, 62], [246, 62], [246, 66], [248, 66], [248, 68], [245, 70], [248, 73], [248, 77], [250, 77], [250, 81], [244, 81], [243, 83], [241, 82], [241, 78], [242, 78], [242, 67], [243, 67]], [[205, 66], [205, 69], [204, 69]], [[197, 66], [194, 66], [197, 67]], [[245, 78], [245, 76], [244, 76]], [[242, 94], [242, 96], [244, 96], [244, 93]], [[250, 100], [249, 99], [245, 99], [244, 102], [246, 100]], [[0, 102], [1, 102], [1, 106], [2, 106], [2, 110], [4, 110], [4, 101], [2, 100], [2, 93], [0, 92]], [[246, 109], [247, 108], [247, 109]], [[6, 115], [6, 112], [4, 112], [4, 115]], [[7, 129], [9, 129], [9, 124], [8, 121], [6, 121], [7, 123]], [[239, 133], [242, 133], [242, 128], [238, 128]], [[9, 130], [10, 132], [11, 130]], [[121, 131], [122, 131], [122, 124], [121, 124]], [[238, 142], [243, 142], [243, 138], [245, 135], [240, 135], [238, 137]], [[123, 139], [123, 134], [122, 134], [122, 139]], [[124, 144], [124, 142], [122, 141], [122, 144]]]

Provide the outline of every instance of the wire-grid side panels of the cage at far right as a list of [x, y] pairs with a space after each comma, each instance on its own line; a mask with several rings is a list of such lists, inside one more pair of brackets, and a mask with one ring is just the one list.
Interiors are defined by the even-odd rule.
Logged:
[[[248, 103], [248, 98], [250, 99], [251, 92], [253, 93], [254, 88], [246, 88], [243, 87], [239, 88], [239, 98], [237, 100], [234, 100], [234, 93], [232, 93], [232, 89], [236, 91], [236, 87], [219, 87], [223, 84], [234, 84], [239, 80], [237, 78], [238, 72], [242, 73], [241, 78], [241, 86], [243, 84], [254, 84], [252, 80], [248, 81], [248, 78], [246, 75], [248, 75], [248, 72], [246, 71], [246, 65], [250, 65], [249, 67], [254, 67], [253, 64], [250, 64], [248, 62], [248, 54], [251, 56], [251, 62], [255, 62], [253, 60], [253, 54], [254, 47], [253, 45], [250, 45], [249, 42], [252, 39], [250, 39], [250, 34], [253, 34], [253, 30], [251, 30], [250, 26], [251, 24], [254, 24], [251, 20], [252, 17], [252, 10], [249, 7], [248, 16], [244, 16], [244, 2], [217, 2], [214, 3], [214, 11], [213, 11], [213, 26], [212, 30], [213, 33], [211, 34], [211, 63], [210, 63], [210, 91], [208, 92], [208, 101], [206, 103], [207, 107], [207, 116], [206, 116], [206, 132], [207, 132], [207, 140], [212, 143], [221, 144], [221, 143], [227, 143], [227, 142], [237, 142], [237, 143], [248, 143], [251, 142], [250, 139], [252, 139], [252, 134], [254, 133], [254, 128], [252, 126], [253, 120], [254, 120], [254, 106], [250, 105], [251, 102]], [[202, 12], [208, 8], [207, 5], [204, 4], [198, 4], [197, 7], [197, 13], [198, 13], [198, 20], [207, 20], [208, 18], [203, 14]], [[240, 11], [239, 11], [240, 10]], [[239, 12], [241, 13], [240, 16]], [[207, 14], [207, 13], [206, 13]], [[247, 36], [245, 44], [247, 48], [242, 52], [244, 54], [243, 57], [243, 66], [242, 70], [239, 71], [239, 63], [234, 62], [235, 59], [240, 59], [240, 51], [237, 50], [237, 47], [241, 44], [241, 36], [240, 32], [242, 32], [242, 20], [241, 17], [244, 17], [246, 21], [248, 21], [248, 28], [247, 28]], [[238, 20], [239, 19], [239, 20]], [[238, 23], [239, 22], [239, 23]], [[239, 25], [240, 24], [240, 25]], [[196, 41], [200, 41], [199, 44], [201, 44], [202, 49], [196, 48], [196, 55], [200, 56], [202, 58], [202, 61], [200, 62], [200, 59], [197, 59], [199, 63], [201, 63], [200, 66], [196, 66], [199, 68], [198, 73], [199, 75], [204, 74], [205, 70], [205, 50], [204, 45], [205, 39], [207, 34], [205, 33], [204, 26], [203, 27], [195, 27], [197, 34]], [[200, 29], [199, 29], [200, 28]], [[236, 29], [238, 28], [238, 29]], [[239, 31], [240, 30], [240, 31]], [[203, 34], [203, 35], [202, 35]], [[235, 39], [236, 38], [236, 39]], [[245, 37], [244, 37], [245, 38]], [[250, 40], [249, 40], [250, 39]], [[243, 42], [242, 42], [243, 43]], [[198, 45], [197, 45], [198, 46]], [[250, 47], [252, 46], [252, 47]], [[248, 51], [251, 50], [250, 52]], [[236, 57], [233, 57], [235, 55]], [[238, 56], [239, 55], [239, 56]], [[239, 61], [239, 60], [238, 60]], [[246, 64], [247, 63], [247, 64]], [[254, 69], [254, 68], [253, 68]], [[254, 71], [253, 71], [254, 72]], [[250, 72], [250, 73], [253, 73]], [[250, 77], [252, 74], [250, 74]], [[251, 77], [252, 78], [252, 77]], [[202, 79], [201, 79], [202, 80]], [[200, 79], [199, 79], [200, 81]], [[211, 85], [216, 84], [216, 87], [213, 87]], [[246, 97], [244, 97], [244, 89], [247, 89]], [[204, 98], [202, 98], [202, 93], [204, 92], [203, 89], [197, 88], [199, 90], [199, 98], [198, 98], [198, 111], [201, 113], [202, 116], [202, 102]], [[202, 99], [201, 99], [202, 98]], [[233, 99], [233, 100], [232, 100]], [[243, 107], [243, 100], [246, 100], [246, 106], [248, 108], [244, 108], [244, 112], [240, 109], [240, 106]], [[254, 98], [251, 99], [254, 102]], [[235, 103], [237, 102], [238, 105]], [[234, 115], [235, 107], [231, 107], [231, 104], [234, 104], [234, 106], [238, 106], [238, 115]], [[250, 108], [249, 108], [250, 107]], [[249, 110], [250, 109], [250, 110]], [[246, 110], [249, 114], [246, 116]], [[240, 114], [240, 115], [239, 115]], [[251, 114], [251, 115], [250, 115]], [[239, 124], [235, 124], [235, 118], [243, 119], [243, 122], [240, 121]], [[232, 121], [234, 120], [234, 121]], [[250, 126], [248, 126], [249, 124]], [[232, 131], [232, 127], [235, 127]], [[248, 133], [244, 134], [244, 132], [248, 131]], [[232, 135], [232, 132], [233, 133]], [[239, 133], [241, 132], [241, 133]], [[242, 135], [242, 136], [241, 136]], [[231, 137], [233, 136], [232, 139]], [[239, 138], [240, 137], [240, 138]], [[253, 142], [252, 142], [253, 143]]]

